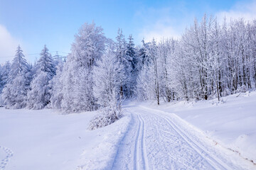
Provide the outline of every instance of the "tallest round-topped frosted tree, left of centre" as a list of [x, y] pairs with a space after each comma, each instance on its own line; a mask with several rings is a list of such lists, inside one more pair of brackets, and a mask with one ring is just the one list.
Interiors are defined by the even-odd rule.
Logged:
[[[72, 54], [63, 68], [63, 99], [60, 107], [65, 112], [93, 111], [97, 108], [93, 96], [92, 67], [105, 50], [106, 38], [101, 27], [85, 23], [75, 35]], [[60, 85], [58, 85], [60, 86]]]

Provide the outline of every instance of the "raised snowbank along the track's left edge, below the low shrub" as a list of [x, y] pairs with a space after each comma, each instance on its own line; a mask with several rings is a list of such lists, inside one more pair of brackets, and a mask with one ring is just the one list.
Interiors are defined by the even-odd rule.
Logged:
[[128, 130], [130, 120], [130, 115], [126, 115], [105, 128], [92, 130], [102, 136], [102, 141], [93, 148], [84, 150], [77, 169], [112, 169], [119, 143]]

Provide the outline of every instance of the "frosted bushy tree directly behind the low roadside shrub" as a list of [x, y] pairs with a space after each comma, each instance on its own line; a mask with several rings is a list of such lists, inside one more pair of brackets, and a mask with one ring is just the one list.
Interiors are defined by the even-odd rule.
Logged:
[[125, 79], [123, 65], [117, 60], [114, 52], [108, 50], [93, 68], [93, 94], [100, 106], [116, 106], [120, 98], [119, 89]]

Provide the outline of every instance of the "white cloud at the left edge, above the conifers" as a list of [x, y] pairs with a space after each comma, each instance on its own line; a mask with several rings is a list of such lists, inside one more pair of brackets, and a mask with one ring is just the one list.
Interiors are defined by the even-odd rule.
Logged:
[[0, 25], [0, 64], [6, 61], [13, 60], [18, 46], [18, 40], [16, 40], [11, 33], [4, 27]]

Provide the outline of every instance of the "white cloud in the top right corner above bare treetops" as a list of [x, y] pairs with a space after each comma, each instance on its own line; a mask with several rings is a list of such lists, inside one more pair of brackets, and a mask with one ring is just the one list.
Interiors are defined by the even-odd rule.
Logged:
[[240, 1], [232, 6], [230, 10], [216, 13], [216, 16], [218, 21], [222, 21], [223, 18], [226, 18], [227, 21], [230, 18], [244, 18], [247, 21], [252, 21], [252, 19], [256, 19], [256, 1]]

